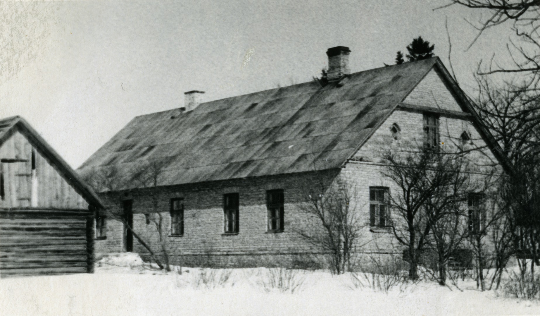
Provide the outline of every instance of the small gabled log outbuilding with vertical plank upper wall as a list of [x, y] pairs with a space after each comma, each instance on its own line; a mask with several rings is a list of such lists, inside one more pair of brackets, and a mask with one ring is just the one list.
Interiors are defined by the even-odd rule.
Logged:
[[96, 194], [21, 117], [0, 119], [0, 276], [93, 272]]

